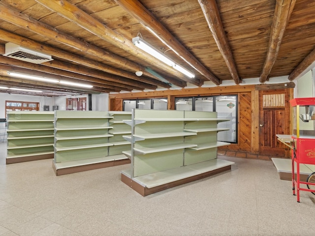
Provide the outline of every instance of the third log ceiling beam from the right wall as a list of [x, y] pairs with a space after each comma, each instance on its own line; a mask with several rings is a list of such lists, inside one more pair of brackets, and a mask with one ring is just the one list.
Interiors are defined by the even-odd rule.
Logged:
[[227, 68], [231, 73], [232, 79], [235, 84], [238, 85], [241, 82], [240, 77], [236, 69], [231, 48], [224, 32], [217, 2], [216, 0], [198, 0], [198, 2], [201, 6], [203, 14], [205, 15], [212, 36], [215, 39]]

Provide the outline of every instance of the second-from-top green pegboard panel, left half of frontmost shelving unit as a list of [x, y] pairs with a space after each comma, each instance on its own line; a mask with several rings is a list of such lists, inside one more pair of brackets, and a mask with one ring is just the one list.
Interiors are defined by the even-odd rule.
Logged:
[[171, 133], [182, 132], [184, 128], [183, 121], [148, 121], [142, 124], [135, 125], [134, 134], [156, 134], [156, 133]]

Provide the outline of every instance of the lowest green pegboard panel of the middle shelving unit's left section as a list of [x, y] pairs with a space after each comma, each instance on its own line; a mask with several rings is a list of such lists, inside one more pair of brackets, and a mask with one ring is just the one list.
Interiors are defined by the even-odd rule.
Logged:
[[84, 148], [55, 152], [55, 163], [108, 156], [108, 147]]

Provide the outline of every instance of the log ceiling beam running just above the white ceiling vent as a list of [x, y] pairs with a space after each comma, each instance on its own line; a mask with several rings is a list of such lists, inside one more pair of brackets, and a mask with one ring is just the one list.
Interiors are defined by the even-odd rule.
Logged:
[[[105, 72], [102, 72], [102, 71], [106, 71], [106, 69], [108, 68], [108, 66], [103, 63], [100, 63], [98, 61], [94, 61], [91, 59], [84, 59], [81, 56], [68, 53], [56, 47], [51, 47], [42, 43], [38, 43], [32, 39], [20, 36], [18, 34], [15, 34], [15, 33], [3, 30], [3, 29], [0, 29], [0, 39], [27, 47], [32, 50], [48, 53], [57, 58], [73, 61], [78, 64], [100, 70], [99, 73], [102, 74], [103, 79], [108, 80], [108, 81], [119, 82], [119, 83], [131, 85], [131, 86], [138, 86], [138, 87], [144, 87], [144, 88], [147, 88], [147, 86], [150, 87], [153, 84], [153, 83], [150, 83], [151, 81], [158, 82], [158, 80], [154, 80], [148, 77], [142, 77], [141, 81], [139, 81], [138, 76], [134, 75], [133, 73], [127, 73], [127, 72], [125, 74], [126, 78], [120, 77], [120, 76], [114, 76], [112, 74], [107, 74]], [[170, 86], [166, 83], [163, 83], [163, 82], [158, 82], [158, 83], [160, 83], [161, 87], [163, 88], [170, 88]], [[182, 85], [182, 83], [180, 83], [180, 85]]]

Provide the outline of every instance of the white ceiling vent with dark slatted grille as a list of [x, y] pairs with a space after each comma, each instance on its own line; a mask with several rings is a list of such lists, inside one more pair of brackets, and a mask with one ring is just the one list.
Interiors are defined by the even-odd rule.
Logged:
[[53, 60], [51, 55], [40, 53], [14, 43], [5, 44], [5, 54], [3, 56], [35, 64]]

